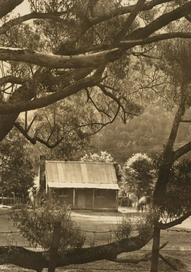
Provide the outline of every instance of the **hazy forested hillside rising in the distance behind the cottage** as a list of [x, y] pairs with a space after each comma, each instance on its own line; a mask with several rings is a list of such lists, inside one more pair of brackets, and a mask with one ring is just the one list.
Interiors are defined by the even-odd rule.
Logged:
[[[107, 125], [91, 139], [95, 148], [92, 152], [107, 151], [115, 160], [124, 163], [133, 153], [161, 152], [170, 135], [174, 113], [177, 109], [167, 111], [162, 105], [148, 104], [144, 113], [134, 117], [126, 124], [116, 120]], [[185, 119], [190, 119], [189, 110]], [[176, 138], [176, 147], [189, 140], [190, 123], [180, 123]]]

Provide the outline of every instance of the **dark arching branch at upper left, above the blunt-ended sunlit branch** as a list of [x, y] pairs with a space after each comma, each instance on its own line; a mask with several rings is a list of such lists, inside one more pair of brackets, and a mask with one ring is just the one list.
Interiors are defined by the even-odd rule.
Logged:
[[58, 21], [59, 23], [65, 24], [66, 26], [73, 25], [73, 21], [64, 20], [64, 19], [61, 19], [58, 17], [58, 16], [61, 16], [65, 13], [66, 12], [63, 11], [63, 12], [49, 12], [49, 13], [32, 12], [32, 13], [26, 14], [24, 16], [12, 19], [12, 20], [8, 21], [7, 23], [3, 24], [0, 27], [0, 35], [5, 34], [7, 32], [7, 30], [10, 29], [10, 27], [13, 27], [17, 24], [21, 24], [24, 21], [31, 20], [31, 19], [51, 19], [54, 21]]

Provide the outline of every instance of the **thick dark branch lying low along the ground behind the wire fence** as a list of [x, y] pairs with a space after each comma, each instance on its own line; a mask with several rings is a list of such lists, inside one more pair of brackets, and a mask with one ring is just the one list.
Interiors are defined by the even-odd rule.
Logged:
[[[144, 239], [140, 236], [122, 239], [107, 245], [96, 246], [93, 248], [71, 249], [58, 253], [56, 262], [57, 267], [63, 267], [70, 264], [85, 264], [98, 260], [116, 259], [122, 252], [131, 252], [141, 249], [153, 237], [153, 232]], [[43, 252], [35, 252], [22, 247], [7, 246], [0, 247], [0, 264], [15, 264], [20, 267], [34, 269], [38, 272], [48, 267], [48, 260]]]

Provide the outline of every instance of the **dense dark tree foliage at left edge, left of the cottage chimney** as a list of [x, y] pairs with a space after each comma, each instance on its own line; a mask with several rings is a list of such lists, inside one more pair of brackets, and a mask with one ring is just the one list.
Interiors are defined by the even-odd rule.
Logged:
[[35, 172], [30, 158], [32, 148], [13, 129], [0, 143], [0, 190], [4, 196], [28, 196], [34, 185]]

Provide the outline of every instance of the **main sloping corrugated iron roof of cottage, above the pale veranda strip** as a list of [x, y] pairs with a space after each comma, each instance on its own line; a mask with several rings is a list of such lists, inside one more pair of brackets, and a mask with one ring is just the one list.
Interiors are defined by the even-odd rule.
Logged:
[[109, 186], [109, 184], [117, 183], [113, 164], [104, 162], [63, 162], [46, 160], [45, 175], [48, 183], [91, 184], [89, 188], [93, 188], [93, 184], [108, 184]]

